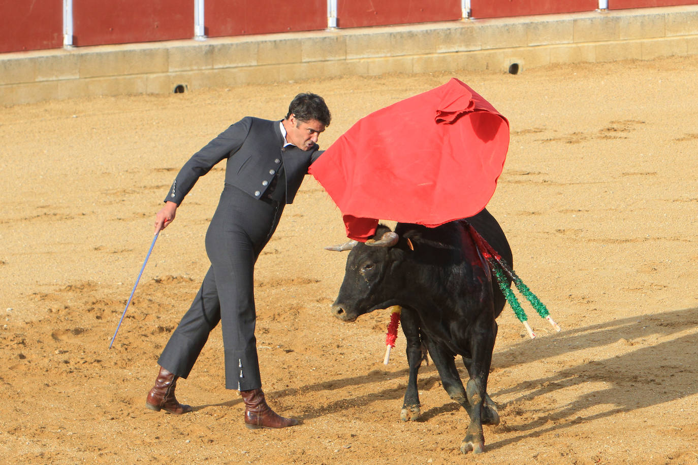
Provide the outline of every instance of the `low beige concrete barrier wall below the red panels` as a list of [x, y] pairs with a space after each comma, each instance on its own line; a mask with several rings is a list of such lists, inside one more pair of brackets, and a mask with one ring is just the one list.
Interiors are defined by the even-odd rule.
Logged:
[[0, 105], [384, 73], [698, 54], [698, 6], [0, 54]]

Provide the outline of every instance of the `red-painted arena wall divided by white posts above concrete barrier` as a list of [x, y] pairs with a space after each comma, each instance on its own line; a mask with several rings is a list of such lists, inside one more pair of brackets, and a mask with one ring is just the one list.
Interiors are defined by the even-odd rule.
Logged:
[[[64, 45], [62, 0], [0, 1], [0, 53]], [[609, 10], [695, 5], [698, 0], [608, 0]], [[203, 0], [204, 22], [195, 32], [197, 0], [72, 0], [72, 34], [77, 47], [156, 40], [320, 31], [390, 24], [461, 20], [461, 0], [337, 0], [336, 17], [327, 0]], [[485, 19], [593, 11], [598, 0], [471, 0], [470, 17]], [[333, 16], [328, 18], [328, 16]], [[198, 29], [203, 26], [202, 29]]]

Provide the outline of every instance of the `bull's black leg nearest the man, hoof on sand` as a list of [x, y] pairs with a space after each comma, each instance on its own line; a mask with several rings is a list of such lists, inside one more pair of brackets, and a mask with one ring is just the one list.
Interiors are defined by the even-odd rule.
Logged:
[[422, 411], [419, 404], [419, 390], [417, 390], [417, 373], [422, 365], [426, 353], [422, 351], [422, 338], [419, 336], [419, 321], [415, 312], [408, 308], [401, 312], [402, 332], [407, 341], [407, 361], [410, 366], [410, 374], [405, 391], [405, 402], [400, 411], [400, 419], [403, 421], [415, 421], [419, 419]]

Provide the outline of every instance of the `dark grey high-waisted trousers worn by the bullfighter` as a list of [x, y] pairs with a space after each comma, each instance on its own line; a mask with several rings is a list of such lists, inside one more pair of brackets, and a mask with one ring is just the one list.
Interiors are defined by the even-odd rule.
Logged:
[[225, 388], [262, 387], [255, 338], [254, 265], [274, 234], [284, 205], [225, 185], [206, 233], [211, 267], [158, 359], [161, 367], [186, 378], [220, 321]]

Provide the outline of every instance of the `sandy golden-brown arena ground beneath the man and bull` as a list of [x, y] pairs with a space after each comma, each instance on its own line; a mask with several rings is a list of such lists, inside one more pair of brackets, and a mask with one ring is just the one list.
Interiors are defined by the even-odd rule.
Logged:
[[[22, 464], [698, 464], [698, 60], [503, 73], [346, 77], [84, 98], [0, 109], [0, 456]], [[246, 115], [281, 118], [325, 96], [329, 146], [357, 119], [459, 77], [511, 122], [489, 210], [515, 269], [563, 326], [506, 307], [489, 392], [502, 422], [461, 455], [467, 414], [433, 365], [422, 420], [401, 422], [400, 334], [388, 312], [332, 317], [345, 254], [340, 212], [313, 178], [256, 268], [262, 379], [303, 420], [248, 431], [223, 387], [216, 328], [177, 388], [195, 411], [144, 408], [156, 359], [208, 267], [224, 167], [161, 234], [112, 349], [154, 214], [194, 151]], [[399, 122], [396, 122], [399, 123]], [[462, 365], [461, 374], [464, 372]], [[6, 462], [6, 463], [7, 463]]]

